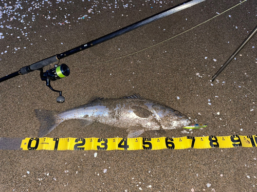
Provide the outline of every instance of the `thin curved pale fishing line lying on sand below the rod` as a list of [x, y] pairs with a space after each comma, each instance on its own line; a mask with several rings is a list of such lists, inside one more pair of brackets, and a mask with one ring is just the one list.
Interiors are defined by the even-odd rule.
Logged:
[[233, 6], [233, 7], [231, 7], [231, 8], [229, 8], [228, 10], [226, 10], [226, 11], [224, 11], [224, 12], [222, 12], [222, 13], [219, 13], [218, 15], [215, 15], [214, 17], [212, 17], [212, 18], [206, 20], [205, 22], [203, 22], [203, 23], [201, 23], [201, 24], [198, 24], [198, 25], [192, 27], [191, 29], [188, 29], [188, 30], [186, 30], [186, 31], [184, 31], [184, 32], [182, 32], [182, 33], [179, 33], [179, 34], [177, 34], [177, 35], [175, 35], [175, 36], [173, 36], [173, 37], [171, 37], [171, 38], [168, 38], [168, 39], [166, 39], [166, 40], [163, 40], [163, 41], [159, 42], [158, 44], [155, 44], [155, 45], [153, 45], [153, 46], [144, 48], [144, 49], [139, 50], [139, 51], [137, 51], [137, 52], [130, 53], [130, 54], [127, 54], [127, 55], [124, 55], [124, 56], [121, 56], [121, 57], [117, 57], [117, 58], [110, 59], [110, 60], [106, 60], [106, 61], [102, 61], [102, 62], [96, 62], [96, 63], [88, 64], [88, 65], [86, 65], [86, 66], [89, 66], [89, 65], [97, 65], [97, 64], [101, 64], [101, 63], [105, 63], [105, 62], [110, 62], [110, 61], [113, 61], [113, 60], [121, 59], [121, 58], [124, 58], [124, 57], [127, 57], [127, 56], [134, 55], [134, 54], [139, 53], [139, 52], [141, 52], [141, 51], [145, 51], [145, 50], [147, 50], [147, 49], [153, 48], [153, 47], [155, 47], [155, 46], [157, 46], [157, 45], [162, 44], [163, 42], [166, 42], [166, 41], [168, 41], [168, 40], [171, 40], [171, 39], [173, 39], [173, 38], [175, 38], [175, 37], [177, 37], [177, 36], [179, 36], [179, 35], [182, 35], [183, 33], [186, 33], [186, 32], [188, 32], [188, 31], [191, 31], [192, 29], [194, 29], [194, 28], [196, 28], [196, 27], [198, 27], [198, 26], [200, 26], [200, 25], [203, 25], [203, 24], [209, 22], [210, 20], [214, 19], [215, 17], [217, 17], [217, 16], [219, 16], [219, 15], [222, 15], [223, 13], [225, 13], [225, 12], [227, 12], [227, 11], [229, 11], [229, 10], [235, 8], [236, 6], [242, 4], [242, 3], [246, 2], [246, 1], [247, 1], [247, 0], [244, 0], [243, 2], [241, 2], [241, 3], [239, 3], [239, 4], [235, 5], [235, 6]]

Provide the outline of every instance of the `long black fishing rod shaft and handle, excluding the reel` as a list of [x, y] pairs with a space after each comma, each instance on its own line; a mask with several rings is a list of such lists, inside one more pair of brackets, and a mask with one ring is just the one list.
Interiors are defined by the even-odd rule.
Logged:
[[[95, 45], [100, 44], [100, 43], [102, 43], [102, 42], [104, 42], [106, 40], [109, 40], [109, 39], [112, 39], [112, 38], [117, 37], [119, 35], [122, 35], [124, 33], [130, 32], [130, 31], [132, 31], [134, 29], [137, 29], [137, 28], [142, 27], [144, 25], [147, 25], [147, 24], [149, 24], [151, 22], [154, 22], [155, 20], [158, 20], [160, 18], [166, 17], [168, 15], [171, 15], [171, 14], [176, 13], [178, 11], [181, 11], [183, 9], [187, 9], [187, 8], [189, 8], [191, 6], [194, 6], [194, 5], [196, 5], [198, 3], [201, 3], [201, 2], [204, 2], [204, 1], [206, 1], [206, 0], [189, 0], [189, 1], [186, 1], [184, 3], [181, 3], [179, 5], [174, 6], [174, 7], [170, 8], [170, 9], [168, 9], [168, 10], [162, 11], [160, 13], [157, 13], [157, 14], [153, 15], [153, 16], [150, 16], [148, 18], [140, 20], [137, 23], [134, 23], [132, 25], [124, 27], [124, 28], [122, 28], [120, 30], [117, 30], [115, 32], [109, 33], [109, 34], [107, 34], [107, 35], [105, 35], [103, 37], [100, 37], [98, 39], [89, 41], [86, 44], [83, 44], [83, 45], [78, 46], [76, 48], [70, 49], [70, 50], [65, 51], [65, 52], [63, 52], [61, 54], [57, 54], [57, 55], [48, 57], [46, 59], [43, 59], [41, 61], [35, 62], [35, 63], [31, 64], [30, 66], [23, 67], [19, 71], [8, 75], [9, 78], [5, 78], [5, 77], [0, 78], [0, 82], [14, 77], [13, 74], [17, 74], [17, 75], [22, 74], [23, 75], [23, 74], [27, 74], [27, 73], [29, 73], [31, 71], [38, 70], [38, 69], [43, 68], [43, 67], [45, 67], [47, 65], [50, 65], [53, 62], [56, 62], [56, 61], [58, 61], [58, 60], [60, 60], [62, 58], [65, 58], [65, 57], [70, 56], [72, 54], [75, 54], [75, 53], [78, 53], [78, 52], [83, 51], [85, 49], [88, 49], [89, 47], [95, 46]], [[15, 76], [17, 76], [17, 75], [15, 75]]]

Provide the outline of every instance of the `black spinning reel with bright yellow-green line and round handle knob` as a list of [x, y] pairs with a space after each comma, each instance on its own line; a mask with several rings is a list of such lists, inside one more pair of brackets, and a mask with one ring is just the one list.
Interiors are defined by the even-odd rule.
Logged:
[[61, 79], [63, 77], [67, 77], [70, 73], [69, 67], [66, 64], [62, 64], [60, 66], [54, 65], [54, 68], [43, 72], [43, 68], [40, 68], [40, 77], [42, 81], [46, 81], [46, 86], [50, 88], [50, 90], [54, 92], [59, 92], [59, 96], [56, 101], [62, 103], [65, 101], [65, 98], [62, 96], [62, 91], [57, 91], [51, 87], [50, 81], [55, 81], [57, 79]]

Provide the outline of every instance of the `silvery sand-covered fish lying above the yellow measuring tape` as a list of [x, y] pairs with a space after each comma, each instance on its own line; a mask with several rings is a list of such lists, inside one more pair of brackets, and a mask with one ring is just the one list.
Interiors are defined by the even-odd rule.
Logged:
[[179, 111], [136, 94], [118, 99], [98, 98], [63, 112], [35, 110], [35, 114], [41, 123], [39, 137], [70, 119], [80, 119], [85, 126], [99, 122], [125, 128], [127, 138], [138, 137], [145, 131], [179, 129], [191, 124]]

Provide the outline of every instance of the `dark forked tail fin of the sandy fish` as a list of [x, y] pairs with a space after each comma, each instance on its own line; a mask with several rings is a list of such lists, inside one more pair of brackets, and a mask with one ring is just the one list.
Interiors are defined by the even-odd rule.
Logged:
[[35, 110], [35, 115], [41, 123], [39, 137], [44, 137], [62, 122], [58, 119], [57, 114], [56, 111]]

